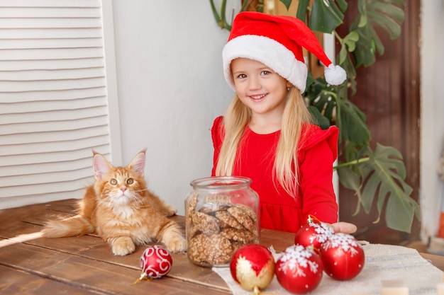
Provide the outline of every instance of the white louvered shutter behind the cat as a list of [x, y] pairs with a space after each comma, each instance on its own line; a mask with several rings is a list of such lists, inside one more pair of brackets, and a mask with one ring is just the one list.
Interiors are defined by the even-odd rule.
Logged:
[[110, 158], [98, 0], [0, 0], [0, 209], [82, 197]]

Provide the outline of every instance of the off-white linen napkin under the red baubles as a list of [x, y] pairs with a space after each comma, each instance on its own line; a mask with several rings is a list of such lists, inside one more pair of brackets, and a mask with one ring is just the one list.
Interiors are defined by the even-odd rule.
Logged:
[[[364, 269], [348, 281], [337, 281], [324, 272], [321, 283], [310, 295], [381, 294], [382, 280], [402, 280], [409, 288], [409, 295], [435, 295], [437, 285], [443, 280], [443, 272], [419, 255], [418, 251], [398, 245], [367, 244]], [[279, 256], [279, 254], [277, 255]], [[276, 257], [276, 256], [275, 256]], [[251, 295], [238, 285], [229, 267], [213, 267], [230, 287], [233, 295]], [[270, 285], [261, 290], [264, 294], [291, 294], [282, 288], [274, 276]]]

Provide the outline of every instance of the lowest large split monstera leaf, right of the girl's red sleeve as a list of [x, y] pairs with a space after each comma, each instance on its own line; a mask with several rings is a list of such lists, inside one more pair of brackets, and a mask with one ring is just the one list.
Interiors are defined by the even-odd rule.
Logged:
[[359, 199], [359, 212], [362, 205], [366, 213], [370, 212], [372, 204], [376, 202], [379, 222], [385, 208], [387, 226], [397, 231], [410, 232], [414, 217], [420, 218], [418, 203], [411, 199], [412, 188], [405, 182], [406, 168], [402, 156], [391, 146], [377, 144], [374, 152], [365, 149], [367, 158], [356, 161], [357, 170], [346, 166], [338, 168], [340, 183], [351, 190], [355, 190]]

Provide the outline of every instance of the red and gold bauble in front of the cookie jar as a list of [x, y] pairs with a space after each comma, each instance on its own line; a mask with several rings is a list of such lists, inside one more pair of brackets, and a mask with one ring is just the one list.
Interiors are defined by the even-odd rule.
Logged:
[[274, 277], [274, 258], [270, 250], [259, 244], [238, 248], [230, 260], [231, 276], [245, 290], [259, 294]]

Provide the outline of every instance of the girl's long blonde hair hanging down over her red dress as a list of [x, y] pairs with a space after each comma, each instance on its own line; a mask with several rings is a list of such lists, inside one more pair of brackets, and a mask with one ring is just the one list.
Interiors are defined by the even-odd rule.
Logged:
[[[250, 109], [236, 95], [223, 118], [225, 136], [216, 166], [216, 175], [232, 175], [238, 147], [242, 144], [242, 135], [250, 117]], [[297, 146], [304, 123], [313, 123], [313, 118], [306, 108], [301, 91], [292, 87], [282, 115], [281, 134], [274, 158], [273, 181], [277, 180], [289, 195], [294, 196], [296, 196], [299, 170]]]

